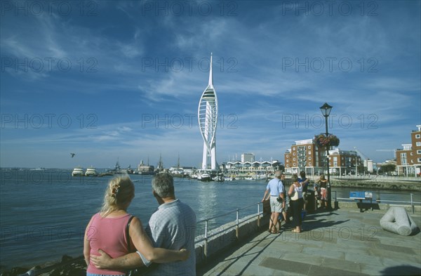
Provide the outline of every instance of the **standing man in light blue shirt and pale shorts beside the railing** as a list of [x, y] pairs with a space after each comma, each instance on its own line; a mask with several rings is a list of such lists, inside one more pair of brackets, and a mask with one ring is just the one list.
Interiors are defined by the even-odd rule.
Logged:
[[279, 213], [282, 213], [282, 210], [285, 207], [281, 174], [281, 171], [275, 171], [275, 177], [267, 183], [265, 195], [263, 195], [262, 199], [262, 202], [270, 199], [270, 210], [272, 213], [270, 215], [268, 232], [271, 232], [272, 234], [279, 233], [276, 225], [278, 224]]

